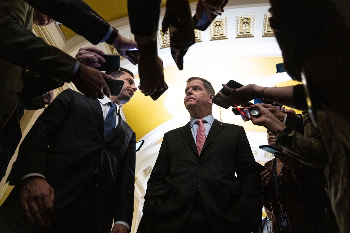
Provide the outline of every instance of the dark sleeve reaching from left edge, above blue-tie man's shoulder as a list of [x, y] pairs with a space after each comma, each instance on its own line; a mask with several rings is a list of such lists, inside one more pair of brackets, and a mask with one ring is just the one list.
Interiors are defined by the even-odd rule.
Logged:
[[79, 61], [46, 44], [18, 19], [10, 16], [0, 19], [0, 29], [0, 59], [66, 82], [75, 77]]

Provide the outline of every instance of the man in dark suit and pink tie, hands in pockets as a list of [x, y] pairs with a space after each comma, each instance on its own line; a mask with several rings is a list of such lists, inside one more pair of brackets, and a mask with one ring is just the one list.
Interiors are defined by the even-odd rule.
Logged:
[[257, 231], [260, 176], [243, 127], [214, 119], [207, 80], [188, 79], [185, 92], [190, 122], [164, 134], [140, 225], [152, 233]]

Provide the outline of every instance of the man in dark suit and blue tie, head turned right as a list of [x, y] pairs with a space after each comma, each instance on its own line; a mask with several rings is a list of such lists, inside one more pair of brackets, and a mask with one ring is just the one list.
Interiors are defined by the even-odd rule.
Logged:
[[67, 89], [38, 118], [10, 173], [16, 186], [1, 206], [0, 232], [109, 233], [113, 218], [113, 233], [130, 230], [135, 133], [118, 110], [137, 88], [130, 71], [112, 75], [125, 82], [118, 96]]

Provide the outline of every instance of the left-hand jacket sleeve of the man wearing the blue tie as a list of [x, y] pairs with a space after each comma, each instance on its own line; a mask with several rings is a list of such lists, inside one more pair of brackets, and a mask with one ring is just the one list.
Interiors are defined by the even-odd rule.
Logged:
[[20, 145], [17, 160], [8, 177], [10, 185], [20, 184], [22, 177], [29, 173], [45, 176], [48, 146], [69, 113], [72, 93], [71, 89], [64, 90], [38, 117]]

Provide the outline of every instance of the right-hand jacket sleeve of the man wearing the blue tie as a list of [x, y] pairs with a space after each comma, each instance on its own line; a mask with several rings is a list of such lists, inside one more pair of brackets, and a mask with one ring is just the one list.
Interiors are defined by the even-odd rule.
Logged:
[[131, 227], [134, 210], [136, 136], [132, 134], [117, 180], [114, 221], [125, 221]]

